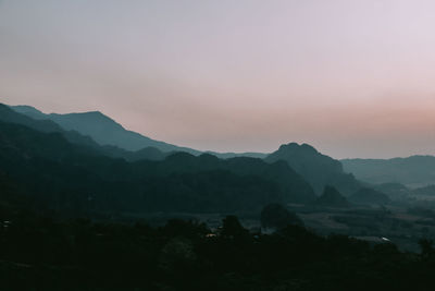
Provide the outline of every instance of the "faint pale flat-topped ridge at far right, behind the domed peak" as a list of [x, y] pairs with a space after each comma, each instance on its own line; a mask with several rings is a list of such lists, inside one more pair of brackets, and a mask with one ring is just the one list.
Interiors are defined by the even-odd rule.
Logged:
[[344, 159], [346, 172], [373, 184], [401, 183], [421, 187], [435, 181], [435, 157], [411, 156], [394, 159]]

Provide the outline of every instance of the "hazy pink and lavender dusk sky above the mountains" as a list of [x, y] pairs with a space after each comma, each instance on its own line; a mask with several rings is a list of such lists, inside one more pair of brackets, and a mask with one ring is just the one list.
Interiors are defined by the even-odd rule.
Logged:
[[435, 154], [431, 0], [0, 0], [0, 102], [216, 151]]

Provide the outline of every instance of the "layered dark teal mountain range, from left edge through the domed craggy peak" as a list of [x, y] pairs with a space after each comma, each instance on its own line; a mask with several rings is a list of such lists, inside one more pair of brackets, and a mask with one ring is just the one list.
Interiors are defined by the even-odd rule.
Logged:
[[271, 154], [199, 151], [125, 130], [99, 111], [46, 114], [30, 106], [0, 105], [0, 122], [9, 167], [0, 180], [54, 208], [234, 211], [314, 203], [326, 186], [345, 197], [369, 186], [308, 144]]

